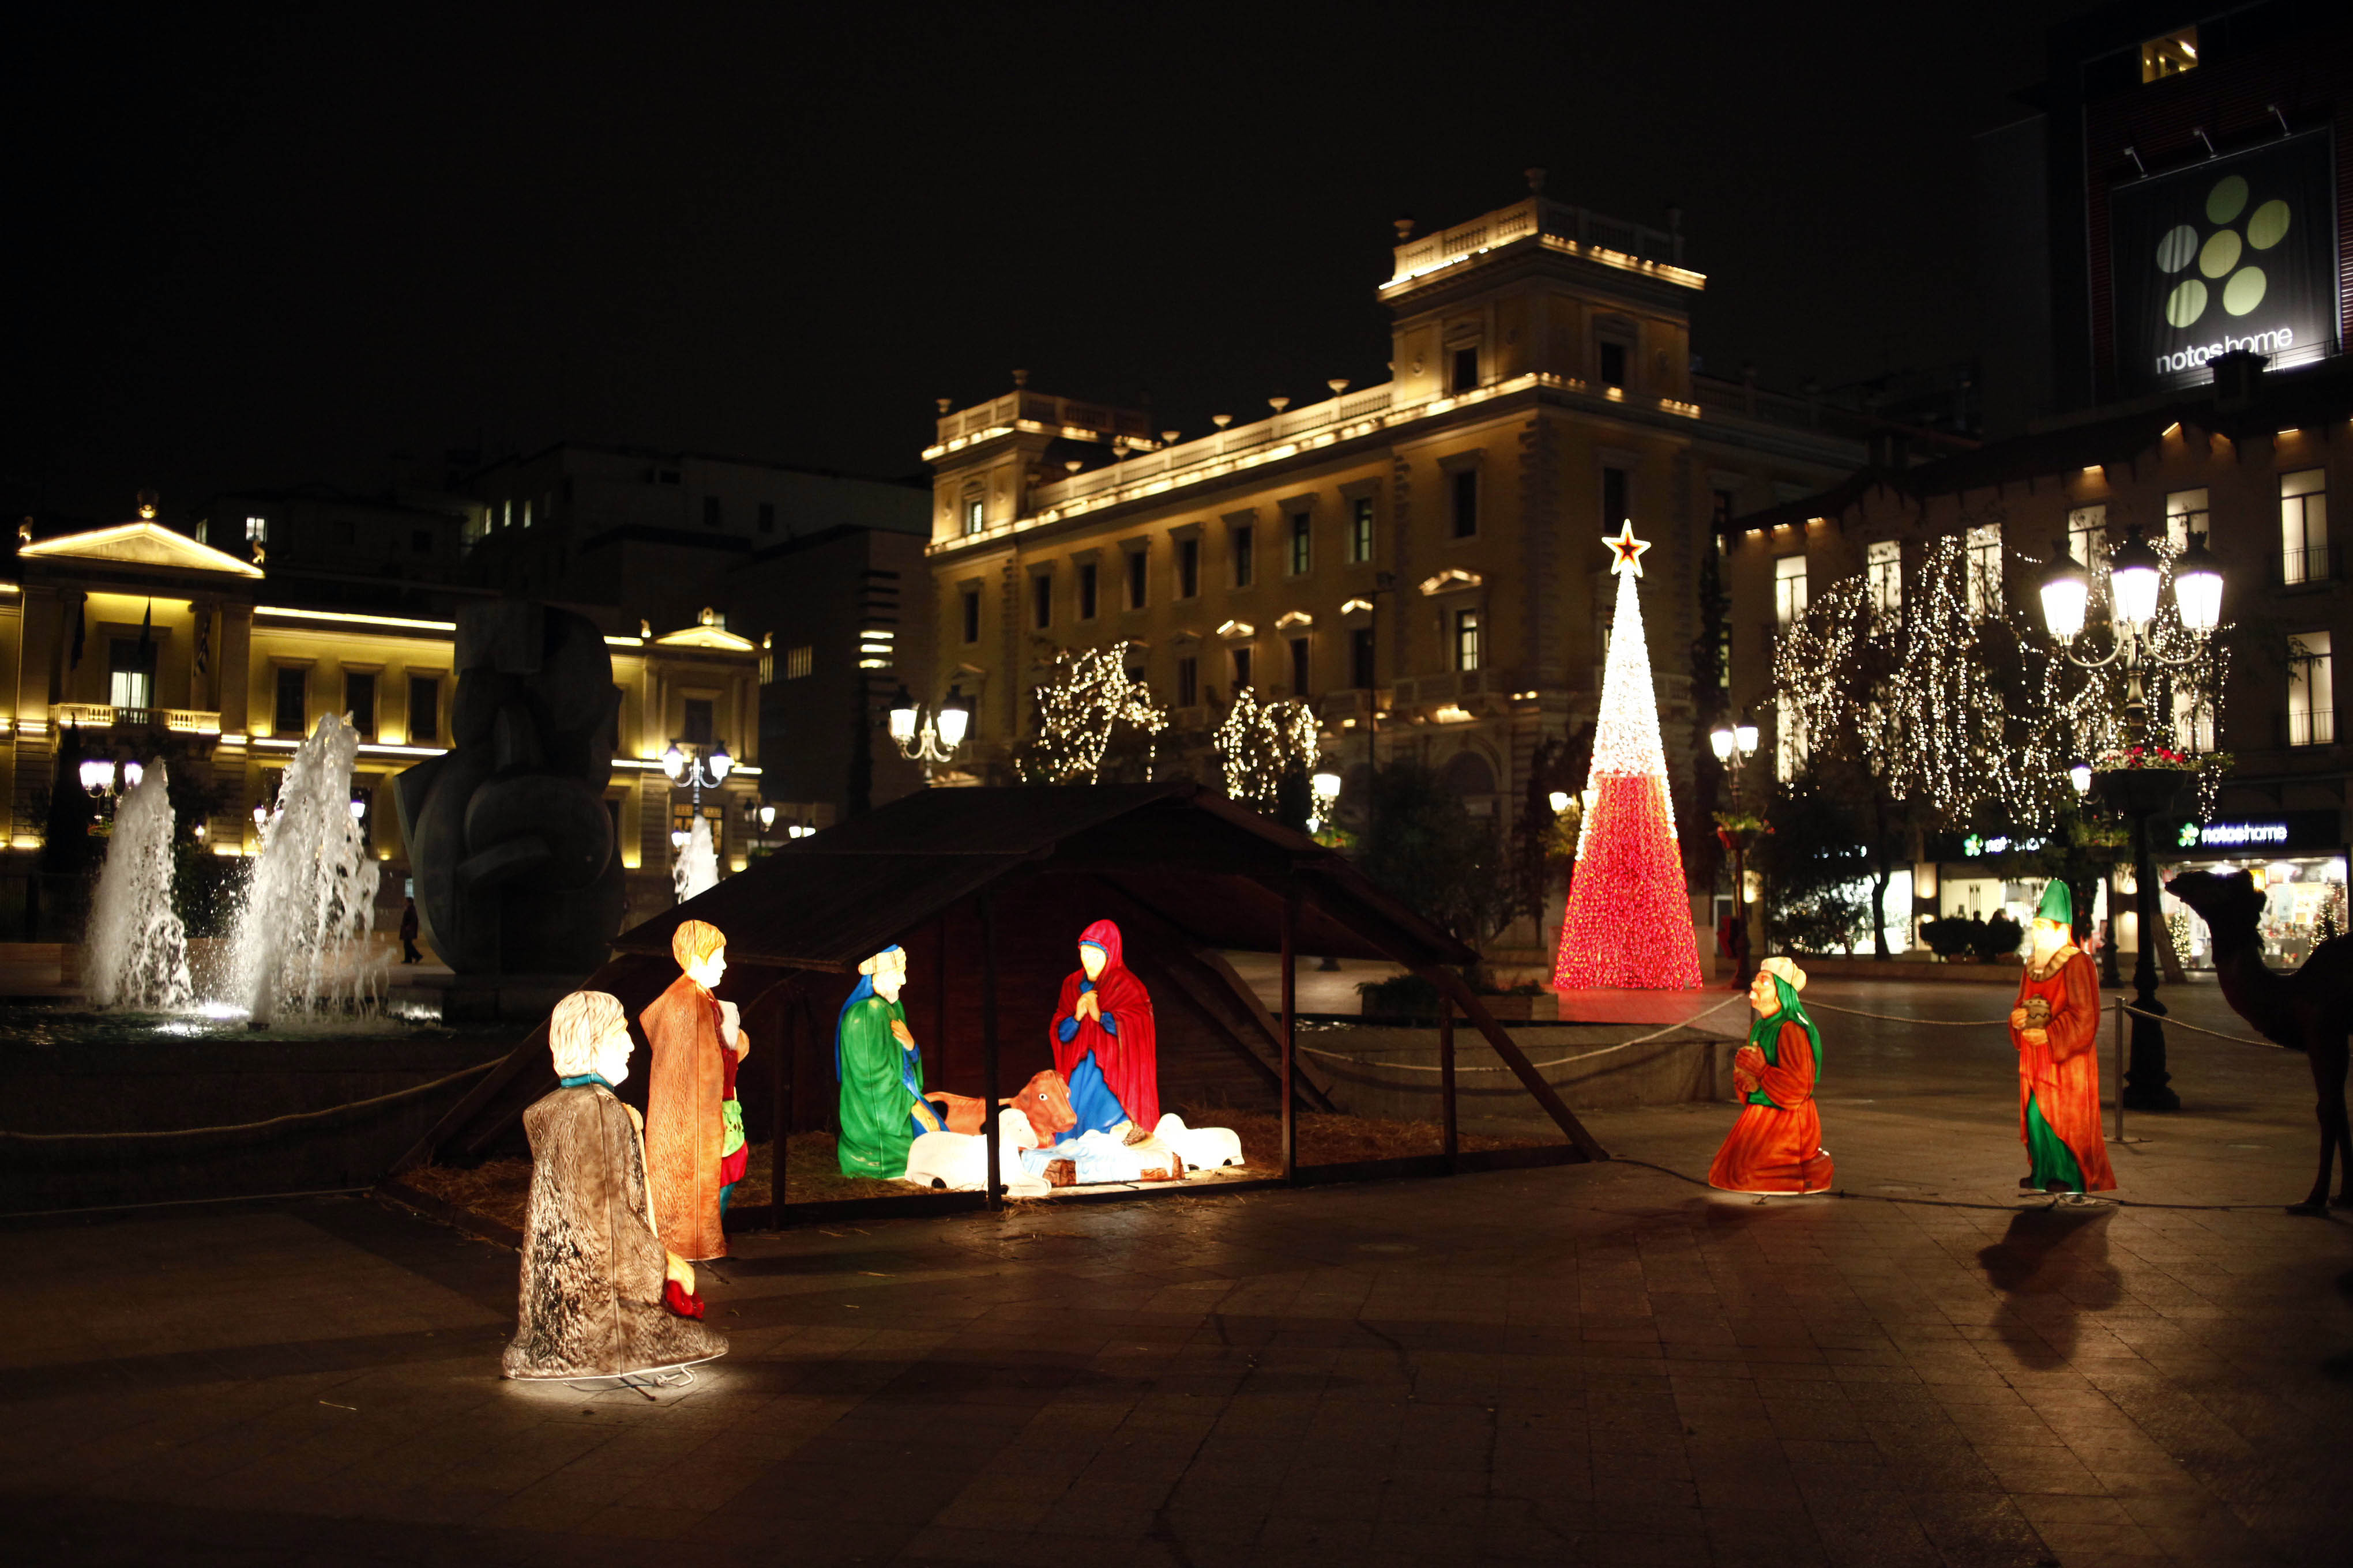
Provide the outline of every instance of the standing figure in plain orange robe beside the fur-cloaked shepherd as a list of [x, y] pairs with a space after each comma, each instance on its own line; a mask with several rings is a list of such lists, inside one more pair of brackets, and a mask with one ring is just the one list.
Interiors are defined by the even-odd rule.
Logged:
[[[727, 973], [727, 938], [689, 919], [671, 933], [685, 971], [638, 1013], [652, 1067], [645, 1084], [645, 1173], [661, 1244], [701, 1262], [727, 1255], [722, 1197], [744, 1175], [744, 1112], [734, 1070], [751, 1048], [711, 987]], [[734, 1037], [729, 1041], [729, 1034]]]

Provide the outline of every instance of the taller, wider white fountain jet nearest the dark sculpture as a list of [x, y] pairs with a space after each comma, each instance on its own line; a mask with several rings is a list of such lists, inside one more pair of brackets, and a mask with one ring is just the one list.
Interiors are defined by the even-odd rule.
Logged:
[[294, 752], [278, 809], [261, 827], [261, 856], [245, 884], [224, 1001], [252, 1027], [285, 1013], [367, 1009], [381, 990], [372, 959], [376, 858], [351, 811], [360, 736], [325, 715]]

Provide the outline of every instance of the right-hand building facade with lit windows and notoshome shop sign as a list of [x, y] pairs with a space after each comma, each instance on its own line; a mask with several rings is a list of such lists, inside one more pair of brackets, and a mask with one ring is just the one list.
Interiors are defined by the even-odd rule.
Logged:
[[[2158, 853], [2169, 867], [2224, 860], [2249, 865], [2273, 893], [2266, 938], [2273, 957], [2301, 959], [2332, 910], [2346, 929], [2346, 731], [2334, 686], [2337, 642], [2353, 639], [2346, 585], [2346, 496], [2353, 494], [2353, 367], [2344, 360], [2264, 374], [2226, 364], [2226, 378], [2174, 402], [2129, 407], [2038, 435], [1906, 470], [1866, 470], [1821, 496], [1739, 517], [1725, 536], [1732, 578], [1734, 705], [1762, 729], [1760, 771], [1791, 776], [1805, 738], [1774, 703], [1774, 646], [1824, 590], [1871, 578], [1873, 602], [1901, 607], [1922, 555], [1962, 538], [1972, 583], [1988, 611], [2040, 635], [2042, 571], [2059, 550], [2097, 571], [2127, 531], [2186, 545], [2207, 536], [2224, 574], [2228, 679], [2212, 703], [2179, 701], [2155, 712], [2155, 738], [2184, 752], [2228, 752], [2231, 771], [2207, 823], [2167, 825]], [[2332, 510], [2337, 520], [2332, 520]], [[1984, 583], [1984, 585], [1979, 585]], [[2094, 604], [2094, 623], [2101, 607]], [[2108, 646], [2085, 632], [2087, 651]], [[2353, 649], [2353, 642], [2346, 642]], [[2184, 837], [2186, 835], [2186, 837]], [[2038, 884], [2005, 882], [2000, 835], [1929, 837], [1892, 898], [1892, 945], [1929, 914], [2033, 912]], [[2129, 865], [2122, 872], [2129, 891]], [[2195, 914], [2179, 917], [2184, 957], [2205, 957]], [[2134, 950], [2129, 907], [2118, 945]]]

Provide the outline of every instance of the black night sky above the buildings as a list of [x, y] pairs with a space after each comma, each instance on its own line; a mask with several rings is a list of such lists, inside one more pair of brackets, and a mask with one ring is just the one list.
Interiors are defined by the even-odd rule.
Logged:
[[565, 437], [906, 475], [1016, 364], [1198, 435], [1381, 381], [1391, 219], [1527, 165], [1682, 207], [1711, 371], [1948, 362], [1969, 134], [2073, 9], [19, 12], [0, 487], [188, 515]]

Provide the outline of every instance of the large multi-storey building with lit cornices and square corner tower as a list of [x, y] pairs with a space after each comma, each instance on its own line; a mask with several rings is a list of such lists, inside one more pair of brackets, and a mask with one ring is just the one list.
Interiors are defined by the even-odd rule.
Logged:
[[1125, 644], [1181, 731], [1238, 686], [1301, 696], [1344, 769], [1414, 755], [1508, 820], [1539, 741], [1591, 724], [1600, 536], [1631, 520], [1657, 545], [1642, 607], [1689, 795], [1701, 557], [1725, 520], [1824, 489], [1864, 444], [1826, 407], [1694, 374], [1706, 280], [1680, 233], [1532, 186], [1454, 228], [1400, 223], [1381, 386], [1268, 400], [1193, 440], [1021, 376], [941, 407], [918, 696], [974, 701], [974, 771], [1005, 766], [1056, 651]]

